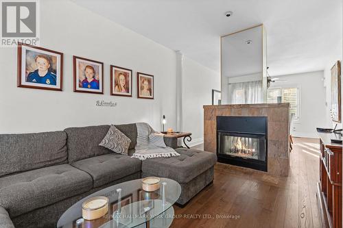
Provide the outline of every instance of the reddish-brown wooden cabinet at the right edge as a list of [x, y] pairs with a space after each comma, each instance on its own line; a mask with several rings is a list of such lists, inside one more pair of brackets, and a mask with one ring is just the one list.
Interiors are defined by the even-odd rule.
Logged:
[[322, 227], [342, 228], [342, 144], [331, 143], [333, 133], [319, 132], [320, 182], [318, 207]]

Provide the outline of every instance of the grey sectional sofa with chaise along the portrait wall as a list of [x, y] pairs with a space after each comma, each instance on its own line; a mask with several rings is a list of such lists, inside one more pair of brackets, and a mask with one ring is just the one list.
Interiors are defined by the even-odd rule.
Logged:
[[[177, 157], [137, 160], [99, 146], [110, 125], [71, 127], [34, 134], [0, 134], [0, 227], [56, 227], [71, 205], [116, 183], [145, 176], [168, 177], [182, 186], [185, 205], [213, 181], [215, 154], [176, 148]], [[135, 124], [116, 125], [132, 141]]]

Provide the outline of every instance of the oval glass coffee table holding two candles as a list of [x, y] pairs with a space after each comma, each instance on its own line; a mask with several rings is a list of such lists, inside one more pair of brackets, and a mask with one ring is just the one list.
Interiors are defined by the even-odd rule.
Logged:
[[[78, 201], [62, 214], [58, 228], [130, 228], [169, 227], [173, 221], [172, 205], [181, 194], [178, 182], [161, 178], [154, 192], [142, 190], [141, 179], [118, 183]], [[95, 220], [82, 218], [82, 203], [91, 197], [108, 197], [108, 213]]]

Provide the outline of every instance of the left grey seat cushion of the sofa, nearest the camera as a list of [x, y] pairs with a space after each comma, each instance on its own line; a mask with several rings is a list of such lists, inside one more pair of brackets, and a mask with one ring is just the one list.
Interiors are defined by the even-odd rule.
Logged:
[[69, 164], [0, 178], [0, 206], [11, 217], [91, 190], [92, 177]]

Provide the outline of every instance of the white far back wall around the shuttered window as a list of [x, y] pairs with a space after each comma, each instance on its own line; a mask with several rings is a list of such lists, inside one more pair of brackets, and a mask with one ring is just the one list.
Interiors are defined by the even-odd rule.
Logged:
[[274, 87], [298, 87], [300, 95], [299, 121], [293, 121], [292, 136], [318, 138], [316, 127], [327, 125], [325, 90], [322, 84], [323, 71], [278, 76], [282, 80], [271, 84]]

